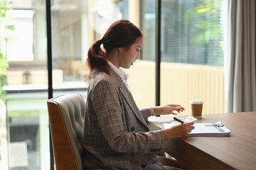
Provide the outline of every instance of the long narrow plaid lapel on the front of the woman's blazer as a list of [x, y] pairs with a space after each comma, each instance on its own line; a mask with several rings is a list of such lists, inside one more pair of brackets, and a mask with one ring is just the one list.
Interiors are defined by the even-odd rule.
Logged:
[[121, 77], [119, 77], [119, 75], [114, 72], [114, 70], [112, 70], [110, 68], [110, 74], [112, 74], [112, 77], [115, 79], [115, 81], [117, 82], [117, 85], [119, 86], [120, 91], [122, 92], [122, 95], [124, 96], [125, 100], [127, 101], [127, 103], [129, 104], [130, 108], [132, 108], [132, 111], [134, 113], [134, 115], [136, 115], [136, 117], [144, 124], [147, 126], [146, 121], [144, 120], [142, 114], [139, 111], [139, 108], [137, 107], [134, 98], [132, 97], [131, 92], [128, 91], [127, 86], [125, 86], [124, 82], [122, 81]]

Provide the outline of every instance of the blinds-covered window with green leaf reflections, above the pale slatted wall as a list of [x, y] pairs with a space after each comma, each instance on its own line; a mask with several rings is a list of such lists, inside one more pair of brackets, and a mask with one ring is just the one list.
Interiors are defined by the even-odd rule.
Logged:
[[162, 1], [161, 61], [222, 66], [222, 3]]

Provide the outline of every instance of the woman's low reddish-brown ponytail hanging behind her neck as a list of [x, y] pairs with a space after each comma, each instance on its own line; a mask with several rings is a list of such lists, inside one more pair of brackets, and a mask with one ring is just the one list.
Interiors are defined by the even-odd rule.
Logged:
[[88, 50], [87, 66], [89, 67], [89, 74], [86, 77], [87, 81], [90, 81], [92, 72], [96, 70], [107, 74], [110, 73], [110, 66], [105, 58], [105, 52], [100, 47], [101, 44], [102, 40], [97, 40]]

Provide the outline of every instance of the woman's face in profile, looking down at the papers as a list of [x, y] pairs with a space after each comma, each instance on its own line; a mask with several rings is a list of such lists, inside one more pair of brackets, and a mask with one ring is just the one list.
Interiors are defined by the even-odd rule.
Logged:
[[122, 47], [120, 54], [119, 67], [129, 69], [135, 60], [139, 60], [140, 51], [142, 50], [143, 37], [139, 37], [131, 47]]

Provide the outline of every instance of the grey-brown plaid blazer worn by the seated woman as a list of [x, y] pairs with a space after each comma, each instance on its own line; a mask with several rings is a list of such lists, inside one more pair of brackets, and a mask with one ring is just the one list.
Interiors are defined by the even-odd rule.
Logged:
[[149, 131], [147, 115], [114, 70], [93, 74], [83, 139], [92, 169], [164, 169], [154, 154], [164, 151], [164, 131]]

